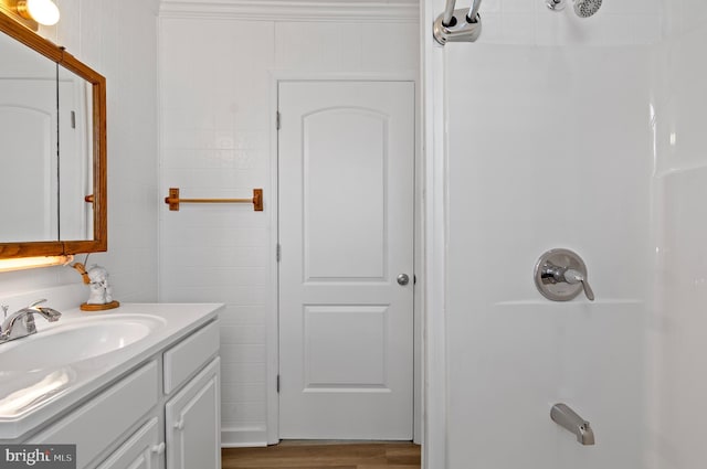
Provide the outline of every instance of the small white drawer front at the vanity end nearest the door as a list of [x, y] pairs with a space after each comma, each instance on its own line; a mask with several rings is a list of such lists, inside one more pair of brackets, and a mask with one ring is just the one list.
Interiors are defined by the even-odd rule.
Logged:
[[219, 352], [219, 324], [214, 321], [165, 352], [165, 394], [197, 373]]

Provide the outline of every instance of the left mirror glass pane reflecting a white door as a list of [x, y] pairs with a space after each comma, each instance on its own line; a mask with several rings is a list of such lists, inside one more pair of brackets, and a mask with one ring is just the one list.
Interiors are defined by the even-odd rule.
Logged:
[[0, 34], [0, 243], [60, 239], [56, 63]]

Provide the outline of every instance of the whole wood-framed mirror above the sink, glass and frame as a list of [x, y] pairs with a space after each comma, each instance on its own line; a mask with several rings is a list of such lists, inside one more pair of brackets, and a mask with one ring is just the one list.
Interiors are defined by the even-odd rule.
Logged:
[[105, 77], [2, 11], [0, 31], [0, 259], [106, 251]]

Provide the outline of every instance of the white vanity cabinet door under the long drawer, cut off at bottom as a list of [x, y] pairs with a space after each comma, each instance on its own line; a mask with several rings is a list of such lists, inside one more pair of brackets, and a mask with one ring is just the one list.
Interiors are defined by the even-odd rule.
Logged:
[[158, 469], [162, 452], [165, 452], [165, 444], [159, 440], [157, 417], [155, 417], [97, 469]]

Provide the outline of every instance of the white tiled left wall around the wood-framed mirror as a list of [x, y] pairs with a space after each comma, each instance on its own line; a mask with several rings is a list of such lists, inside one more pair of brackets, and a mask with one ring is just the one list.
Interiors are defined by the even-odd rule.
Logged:
[[[107, 79], [108, 268], [120, 301], [157, 298], [157, 0], [59, 0], [40, 33]], [[28, 214], [31, 216], [31, 214]], [[77, 258], [83, 260], [83, 256]], [[81, 283], [65, 267], [0, 274], [0, 296]], [[86, 290], [86, 296], [88, 291]], [[49, 298], [50, 303], [52, 298]], [[77, 306], [77, 305], [76, 305]]]

